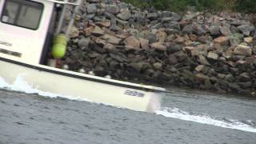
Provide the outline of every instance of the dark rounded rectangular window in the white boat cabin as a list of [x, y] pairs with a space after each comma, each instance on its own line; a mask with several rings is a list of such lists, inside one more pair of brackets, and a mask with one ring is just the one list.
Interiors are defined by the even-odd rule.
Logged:
[[14, 26], [37, 30], [43, 5], [29, 0], [8, 0], [2, 11], [1, 21]]

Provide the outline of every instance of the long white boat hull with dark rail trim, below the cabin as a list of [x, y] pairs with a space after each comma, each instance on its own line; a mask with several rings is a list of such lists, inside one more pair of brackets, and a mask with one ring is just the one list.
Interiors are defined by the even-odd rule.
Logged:
[[22, 75], [24, 81], [38, 90], [150, 113], [159, 109], [161, 95], [165, 92], [165, 89], [158, 87], [99, 78], [50, 66], [28, 65], [5, 58], [0, 58], [0, 68], [0, 77], [10, 84]]

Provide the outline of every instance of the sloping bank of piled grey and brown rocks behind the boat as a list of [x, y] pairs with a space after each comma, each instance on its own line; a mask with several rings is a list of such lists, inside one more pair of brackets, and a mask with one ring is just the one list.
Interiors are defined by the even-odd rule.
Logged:
[[128, 82], [256, 95], [254, 18], [86, 0], [62, 62], [70, 70]]

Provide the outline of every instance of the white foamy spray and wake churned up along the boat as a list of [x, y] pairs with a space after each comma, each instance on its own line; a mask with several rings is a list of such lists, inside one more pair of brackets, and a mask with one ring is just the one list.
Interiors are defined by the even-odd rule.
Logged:
[[[7, 83], [4, 78], [0, 77], [0, 89], [6, 90], [14, 90], [18, 92], [24, 92], [26, 94], [39, 94], [41, 96], [50, 97], [50, 98], [68, 98], [71, 100], [78, 100], [78, 101], [86, 101], [90, 102], [86, 98], [76, 98], [74, 96], [67, 96], [62, 94], [53, 94], [50, 92], [38, 90], [34, 88], [33, 85], [28, 84], [26, 81], [23, 80], [22, 75], [16, 78], [15, 82], [12, 84]], [[106, 103], [103, 103], [106, 106], [110, 106]], [[121, 108], [121, 107], [118, 107]], [[160, 110], [155, 111], [155, 114], [162, 115], [166, 118], [177, 118], [184, 121], [190, 122], [198, 122], [202, 124], [212, 125], [212, 126], [219, 126], [223, 128], [229, 128], [234, 130], [242, 130], [247, 132], [256, 133], [256, 127], [250, 126], [250, 120], [245, 122], [239, 122], [238, 120], [228, 119], [228, 118], [214, 118], [207, 114], [191, 114], [186, 111], [179, 110], [178, 108], [170, 108], [170, 107], [162, 107]]]

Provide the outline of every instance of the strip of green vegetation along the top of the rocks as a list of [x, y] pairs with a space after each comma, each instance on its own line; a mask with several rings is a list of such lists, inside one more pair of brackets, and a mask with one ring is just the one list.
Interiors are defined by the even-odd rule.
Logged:
[[139, 8], [154, 6], [158, 10], [181, 12], [194, 6], [197, 10], [234, 10], [244, 13], [256, 12], [256, 0], [122, 0]]

